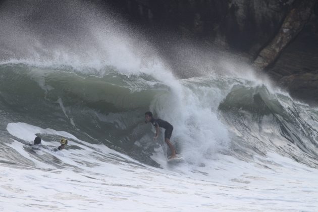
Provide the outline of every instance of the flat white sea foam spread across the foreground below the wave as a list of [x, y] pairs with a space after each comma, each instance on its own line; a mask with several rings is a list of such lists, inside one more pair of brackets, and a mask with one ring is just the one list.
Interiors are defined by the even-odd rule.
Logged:
[[[21, 148], [21, 143], [8, 144], [21, 156], [36, 162], [36, 166], [33, 169], [0, 167], [0, 208], [5, 211], [318, 209], [318, 171], [277, 153], [255, 157], [255, 163], [223, 155], [206, 167], [198, 168], [196, 173], [188, 172], [184, 164], [172, 166], [169, 171], [138, 165], [125, 155], [103, 145], [80, 141], [67, 132], [41, 129], [26, 123], [11, 123], [8, 131], [26, 140], [35, 133], [65, 136], [73, 139], [71, 146], [81, 149], [65, 149], [61, 151], [63, 155], [50, 152], [64, 166], [43, 169], [51, 166], [43, 167]], [[50, 143], [43, 141], [44, 145]], [[98, 160], [95, 157], [98, 154], [109, 160]], [[114, 154], [124, 156], [127, 161], [115, 160]], [[262, 166], [264, 164], [267, 167]]]

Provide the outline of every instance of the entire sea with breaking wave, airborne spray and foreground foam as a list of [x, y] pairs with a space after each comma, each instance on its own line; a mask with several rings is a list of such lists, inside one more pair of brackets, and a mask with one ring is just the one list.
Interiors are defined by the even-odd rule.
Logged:
[[318, 109], [248, 65], [176, 46], [180, 77], [83, 1], [6, 1], [0, 20], [1, 211], [318, 211]]

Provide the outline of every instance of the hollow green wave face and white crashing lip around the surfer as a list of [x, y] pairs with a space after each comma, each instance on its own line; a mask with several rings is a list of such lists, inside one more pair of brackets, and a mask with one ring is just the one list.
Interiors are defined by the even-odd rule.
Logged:
[[[167, 85], [144, 73], [128, 76], [110, 68], [103, 71], [103, 76], [92, 76], [65, 68], [3, 64], [1, 106], [10, 111], [5, 117], [68, 131], [83, 140], [92, 137], [153, 164], [149, 155], [157, 143], [151, 142], [151, 125], [144, 124], [144, 113], [151, 110], [175, 126], [178, 151], [188, 154], [192, 163], [199, 162], [192, 158], [193, 150], [210, 157], [219, 147], [227, 148], [228, 131], [218, 118], [217, 102], [224, 91], [217, 85], [230, 89], [233, 79], [171, 77]], [[22, 116], [19, 110], [24, 111]]]

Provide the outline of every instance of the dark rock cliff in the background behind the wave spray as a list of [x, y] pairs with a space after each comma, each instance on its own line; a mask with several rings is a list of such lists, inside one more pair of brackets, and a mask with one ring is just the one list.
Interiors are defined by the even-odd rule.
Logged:
[[105, 0], [144, 26], [221, 45], [318, 102], [318, 0]]

